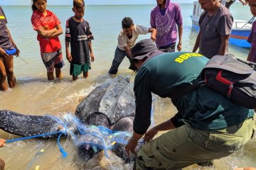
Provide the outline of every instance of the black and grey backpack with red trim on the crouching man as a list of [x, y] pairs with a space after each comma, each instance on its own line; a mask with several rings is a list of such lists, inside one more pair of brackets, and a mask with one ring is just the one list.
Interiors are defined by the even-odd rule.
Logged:
[[180, 98], [199, 86], [218, 91], [235, 104], [256, 108], [256, 63], [238, 59], [233, 55], [215, 55], [203, 68], [198, 78], [203, 81], [182, 87], [171, 98]]

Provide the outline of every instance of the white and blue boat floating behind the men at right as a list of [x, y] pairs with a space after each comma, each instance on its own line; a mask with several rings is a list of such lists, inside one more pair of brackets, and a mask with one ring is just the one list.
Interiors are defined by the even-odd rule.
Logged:
[[[223, 1], [225, 4], [225, 1]], [[198, 1], [193, 2], [193, 15], [191, 15], [192, 28], [199, 30], [199, 18], [203, 9], [201, 8]], [[252, 17], [249, 21], [244, 20], [234, 20], [233, 28], [230, 34], [229, 43], [232, 45], [237, 45], [239, 47], [250, 47], [250, 43], [247, 42], [247, 39], [252, 30], [252, 23], [255, 21], [255, 17]]]

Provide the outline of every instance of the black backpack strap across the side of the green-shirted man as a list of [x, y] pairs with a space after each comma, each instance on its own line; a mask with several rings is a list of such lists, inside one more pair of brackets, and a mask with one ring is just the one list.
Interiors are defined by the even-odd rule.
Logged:
[[170, 98], [181, 98], [182, 96], [189, 94], [191, 91], [194, 91], [198, 88], [198, 86], [206, 84], [206, 81], [198, 81], [194, 84], [185, 86], [185, 87], [177, 87], [174, 89], [174, 93], [171, 94]]

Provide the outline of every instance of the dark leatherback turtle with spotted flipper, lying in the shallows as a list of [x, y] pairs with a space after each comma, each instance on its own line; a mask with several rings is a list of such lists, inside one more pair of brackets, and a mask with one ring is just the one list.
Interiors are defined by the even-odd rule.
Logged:
[[[132, 132], [132, 123], [135, 114], [135, 101], [133, 85], [129, 79], [122, 76], [115, 77], [112, 81], [97, 86], [78, 105], [75, 117], [85, 125], [95, 125], [112, 130]], [[57, 132], [63, 127], [60, 118], [49, 115], [23, 115], [13, 111], [0, 111], [0, 128], [6, 132], [22, 137], [33, 135], [49, 134]], [[79, 130], [73, 128], [73, 133]], [[44, 135], [42, 139], [58, 137], [57, 135]], [[82, 135], [81, 135], [82, 137]], [[84, 137], [90, 142], [90, 137]], [[79, 153], [85, 159], [90, 159], [100, 149], [92, 149], [91, 146], [80, 145]], [[124, 159], [124, 162], [131, 162], [134, 157], [128, 157], [124, 151], [124, 145], [117, 144], [114, 153]]]

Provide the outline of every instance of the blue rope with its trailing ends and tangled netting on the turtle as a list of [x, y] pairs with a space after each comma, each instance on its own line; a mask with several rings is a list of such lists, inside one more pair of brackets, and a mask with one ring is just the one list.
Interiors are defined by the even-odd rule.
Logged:
[[[152, 111], [151, 111], [151, 118], [153, 118], [153, 113], [154, 113], [154, 108], [152, 108]], [[68, 156], [68, 153], [65, 152], [63, 147], [60, 146], [60, 137], [70, 135], [73, 138], [75, 145], [77, 146], [87, 145], [87, 147], [92, 147], [95, 153], [98, 152], [99, 149], [102, 149], [105, 151], [106, 157], [108, 157], [107, 150], [114, 149], [115, 147], [117, 147], [117, 144], [127, 145], [129, 138], [132, 137], [132, 134], [130, 132], [110, 130], [109, 128], [106, 128], [103, 126], [92, 125], [90, 127], [86, 127], [85, 125], [80, 123], [80, 121], [77, 118], [75, 118], [72, 115], [65, 115], [64, 121], [54, 116], [50, 116], [50, 115], [47, 115], [47, 116], [49, 116], [50, 118], [53, 118], [53, 120], [58, 122], [58, 124], [62, 125], [64, 130], [58, 131], [58, 132], [49, 132], [41, 135], [33, 135], [29, 137], [21, 137], [14, 140], [6, 140], [6, 143], [16, 142], [20, 140], [28, 140], [28, 139], [38, 138], [38, 137], [47, 137], [50, 135], [58, 135], [57, 144], [60, 149], [60, 153], [62, 154], [62, 157], [65, 158]], [[75, 131], [78, 132], [78, 134], [75, 134]], [[84, 138], [80, 138], [80, 136], [78, 135]], [[85, 142], [85, 140], [87, 140], [87, 137], [92, 137], [92, 140]], [[96, 140], [96, 142], [94, 140]], [[139, 140], [138, 145], [143, 145], [143, 144], [144, 144], [144, 140]]]

